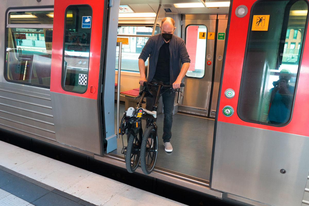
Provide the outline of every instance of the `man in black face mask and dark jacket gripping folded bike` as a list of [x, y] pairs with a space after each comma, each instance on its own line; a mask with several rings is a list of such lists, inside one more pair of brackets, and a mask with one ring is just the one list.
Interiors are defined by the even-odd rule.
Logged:
[[[162, 33], [149, 37], [146, 42], [141, 55], [138, 57], [138, 68], [141, 75], [139, 80], [143, 85], [147, 82], [163, 82], [164, 85], [173, 85], [174, 89], [180, 88], [182, 78], [188, 71], [190, 66], [190, 59], [187, 52], [184, 40], [173, 35], [175, 31], [175, 21], [170, 17], [162, 19], [161, 31]], [[150, 55], [150, 57], [149, 57]], [[145, 76], [145, 61], [149, 57], [149, 74], [148, 80]], [[183, 64], [180, 68], [180, 61]], [[162, 100], [164, 110], [163, 122], [163, 145], [165, 151], [173, 151], [170, 143], [171, 127], [172, 127], [172, 111], [174, 108], [176, 92], [164, 92], [162, 89]], [[156, 91], [154, 91], [154, 96]], [[154, 98], [146, 99], [146, 109], [152, 111], [154, 105]]]

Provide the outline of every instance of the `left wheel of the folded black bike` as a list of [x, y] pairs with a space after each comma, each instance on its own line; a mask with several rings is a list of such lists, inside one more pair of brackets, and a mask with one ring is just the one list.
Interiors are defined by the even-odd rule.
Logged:
[[138, 135], [140, 135], [140, 132], [136, 136], [131, 133], [128, 134], [129, 141], [125, 155], [125, 166], [129, 173], [133, 173], [136, 170], [140, 160], [141, 137], [138, 138]]

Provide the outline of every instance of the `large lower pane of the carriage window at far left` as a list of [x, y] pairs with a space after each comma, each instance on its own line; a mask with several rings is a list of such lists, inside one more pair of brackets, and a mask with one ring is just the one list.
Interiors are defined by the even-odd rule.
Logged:
[[[43, 37], [38, 39], [28, 34]], [[51, 28], [7, 28], [6, 78], [49, 87], [52, 37]]]

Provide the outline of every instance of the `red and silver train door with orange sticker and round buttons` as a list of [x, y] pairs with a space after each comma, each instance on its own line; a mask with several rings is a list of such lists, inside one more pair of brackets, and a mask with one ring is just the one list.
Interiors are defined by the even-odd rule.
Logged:
[[210, 187], [254, 205], [300, 206], [309, 171], [308, 1], [234, 0], [229, 15]]

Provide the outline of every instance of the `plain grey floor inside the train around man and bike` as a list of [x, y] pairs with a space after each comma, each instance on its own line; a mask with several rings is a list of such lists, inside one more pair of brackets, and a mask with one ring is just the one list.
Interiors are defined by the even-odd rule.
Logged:
[[[117, 105], [115, 104], [115, 133], [117, 123]], [[120, 105], [120, 120], [123, 117], [125, 105]], [[190, 175], [200, 179], [210, 179], [210, 164], [214, 137], [214, 120], [184, 115], [173, 115], [171, 145], [172, 152], [166, 152], [163, 146], [164, 114], [158, 115], [158, 157], [156, 166]], [[145, 123], [142, 125], [145, 125]], [[127, 145], [127, 137], [123, 136]], [[122, 141], [117, 139], [117, 149], [113, 154], [121, 155]]]

